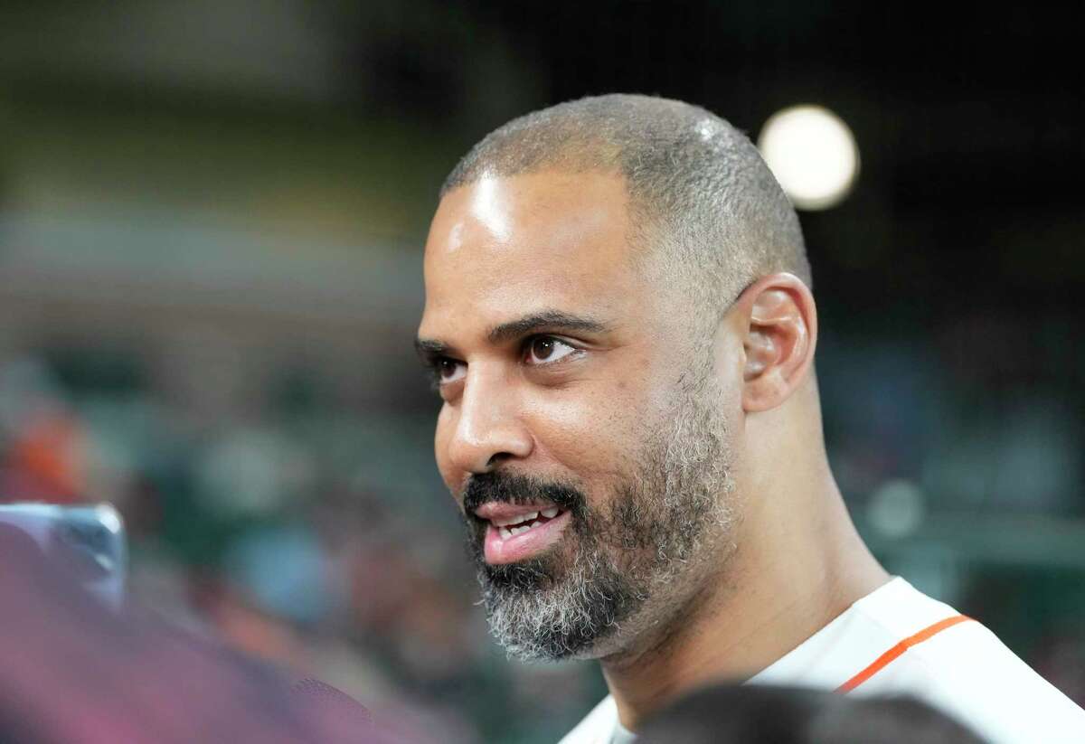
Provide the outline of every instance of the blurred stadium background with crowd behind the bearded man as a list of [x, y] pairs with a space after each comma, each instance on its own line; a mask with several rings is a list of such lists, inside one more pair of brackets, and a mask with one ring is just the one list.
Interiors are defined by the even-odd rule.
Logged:
[[556, 741], [598, 670], [488, 640], [433, 465], [411, 342], [437, 189], [583, 94], [685, 99], [755, 139], [816, 104], [858, 154], [801, 211], [853, 514], [1085, 704], [1071, 13], [0, 3], [0, 500], [113, 502], [132, 597], [449, 742]]

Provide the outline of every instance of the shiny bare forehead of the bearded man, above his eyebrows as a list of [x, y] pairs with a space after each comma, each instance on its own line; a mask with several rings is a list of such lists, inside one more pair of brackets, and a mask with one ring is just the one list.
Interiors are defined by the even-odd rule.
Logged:
[[626, 203], [620, 177], [595, 172], [484, 177], [449, 192], [425, 246], [422, 335], [542, 309], [623, 313], [643, 294]]

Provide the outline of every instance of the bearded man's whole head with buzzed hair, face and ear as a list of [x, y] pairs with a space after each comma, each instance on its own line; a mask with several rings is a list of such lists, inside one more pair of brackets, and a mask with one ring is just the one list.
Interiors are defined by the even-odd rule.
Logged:
[[437, 464], [510, 652], [627, 651], [720, 572], [748, 414], [807, 377], [808, 284], [786, 196], [704, 110], [584, 99], [460, 162], [419, 348], [445, 401]]

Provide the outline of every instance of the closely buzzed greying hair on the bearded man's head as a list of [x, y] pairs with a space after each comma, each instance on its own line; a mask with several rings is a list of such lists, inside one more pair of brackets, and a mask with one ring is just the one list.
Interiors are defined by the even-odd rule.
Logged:
[[750, 139], [700, 106], [615, 93], [526, 114], [472, 147], [441, 196], [487, 177], [548, 170], [621, 176], [630, 243], [648, 248], [637, 260], [679, 283], [704, 321], [718, 322], [766, 274], [788, 271], [813, 288], [783, 190]]

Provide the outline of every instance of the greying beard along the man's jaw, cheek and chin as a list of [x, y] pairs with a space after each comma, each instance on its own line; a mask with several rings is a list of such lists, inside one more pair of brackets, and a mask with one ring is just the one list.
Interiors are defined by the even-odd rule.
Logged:
[[562, 538], [571, 551], [489, 566], [475, 549], [490, 633], [510, 657], [620, 652], [680, 611], [677, 594], [714, 552], [706, 538], [727, 535], [733, 491], [722, 416], [702, 402], [703, 384], [682, 393], [672, 425], [647, 442], [605, 511], [573, 510]]

